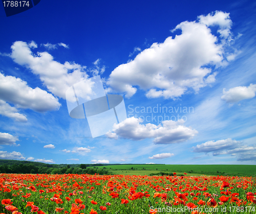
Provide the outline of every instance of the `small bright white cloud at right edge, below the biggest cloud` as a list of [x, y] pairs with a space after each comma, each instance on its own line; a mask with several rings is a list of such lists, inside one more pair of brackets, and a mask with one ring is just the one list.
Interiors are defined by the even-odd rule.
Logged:
[[223, 88], [223, 96], [221, 99], [227, 103], [236, 103], [241, 100], [254, 98], [255, 92], [256, 84], [250, 84], [248, 87], [238, 86], [230, 88], [228, 91], [226, 91], [226, 88]]

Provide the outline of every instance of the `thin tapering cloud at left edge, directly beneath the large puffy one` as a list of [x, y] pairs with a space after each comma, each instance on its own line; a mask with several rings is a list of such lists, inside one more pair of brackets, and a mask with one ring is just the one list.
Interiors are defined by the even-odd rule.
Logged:
[[18, 109], [10, 106], [3, 100], [0, 100], [0, 114], [9, 118], [14, 118], [17, 122], [27, 122], [26, 115], [18, 113]]

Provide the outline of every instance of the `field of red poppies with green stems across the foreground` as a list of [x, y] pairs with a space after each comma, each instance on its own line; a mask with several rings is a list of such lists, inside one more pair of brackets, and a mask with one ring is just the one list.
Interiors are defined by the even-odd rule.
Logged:
[[254, 177], [0, 174], [0, 213], [254, 213], [255, 188]]

